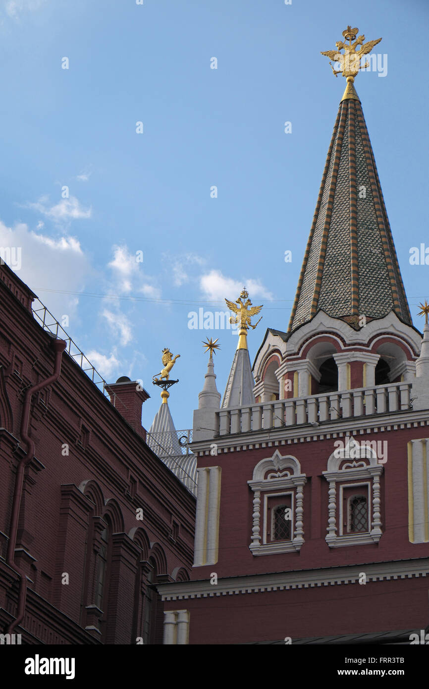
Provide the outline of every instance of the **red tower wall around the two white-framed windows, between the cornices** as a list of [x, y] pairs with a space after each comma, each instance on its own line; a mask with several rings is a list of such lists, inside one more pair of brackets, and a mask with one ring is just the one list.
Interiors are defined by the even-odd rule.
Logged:
[[[428, 437], [426, 426], [384, 433], [356, 435], [362, 440], [387, 441], [387, 462], [380, 477], [381, 522], [384, 532], [378, 544], [329, 548], [328, 482], [322, 475], [328, 457], [335, 450], [335, 440], [317, 440], [232, 453], [198, 457], [198, 466], [222, 467], [220, 491], [219, 559], [216, 565], [193, 568], [192, 579], [206, 579], [212, 571], [218, 577], [289, 571], [296, 568], [335, 567], [359, 562], [384, 562], [408, 557], [427, 557], [428, 544], [408, 540], [407, 443], [412, 438]], [[339, 439], [339, 440], [344, 440]], [[254, 556], [251, 542], [253, 491], [247, 482], [260, 460], [271, 457], [278, 449], [282, 455], [293, 455], [306, 474], [304, 486], [304, 540], [300, 553]], [[338, 513], [338, 502], [337, 502]]]

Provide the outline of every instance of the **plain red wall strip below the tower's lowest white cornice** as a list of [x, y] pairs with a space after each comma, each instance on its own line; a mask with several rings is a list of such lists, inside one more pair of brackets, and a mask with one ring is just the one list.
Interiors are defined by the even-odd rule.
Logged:
[[419, 578], [168, 601], [165, 609], [189, 610], [189, 644], [285, 637], [293, 643], [318, 636], [419, 632], [428, 624], [427, 599], [427, 579]]

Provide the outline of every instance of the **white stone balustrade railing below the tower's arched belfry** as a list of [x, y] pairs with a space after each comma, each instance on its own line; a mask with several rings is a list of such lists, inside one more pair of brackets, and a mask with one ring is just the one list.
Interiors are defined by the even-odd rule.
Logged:
[[401, 411], [410, 409], [410, 395], [411, 383], [402, 382], [230, 407], [216, 412], [216, 430], [229, 435]]

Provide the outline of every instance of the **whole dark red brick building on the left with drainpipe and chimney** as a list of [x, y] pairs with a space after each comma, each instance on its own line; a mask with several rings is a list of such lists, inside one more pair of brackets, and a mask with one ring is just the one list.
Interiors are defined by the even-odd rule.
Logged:
[[189, 579], [195, 498], [145, 442], [147, 392], [99, 389], [32, 291], [6, 265], [0, 278], [2, 631], [160, 644], [155, 585]]

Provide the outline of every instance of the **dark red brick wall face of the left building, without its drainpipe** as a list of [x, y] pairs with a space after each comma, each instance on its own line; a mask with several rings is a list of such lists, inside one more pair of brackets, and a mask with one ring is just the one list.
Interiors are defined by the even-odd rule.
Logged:
[[[28, 310], [32, 293], [25, 294], [25, 285], [5, 265], [2, 271], [6, 276], [0, 280], [0, 607], [6, 612], [0, 615], [0, 626], [16, 615], [19, 577], [5, 557], [14, 472], [26, 451], [19, 438], [24, 391], [51, 376], [54, 368], [52, 338]], [[39, 641], [49, 643], [56, 626], [61, 639], [66, 615], [73, 630], [67, 628], [63, 643], [73, 638], [76, 643], [93, 643], [91, 633], [83, 633], [87, 625], [107, 629], [103, 639], [109, 643], [135, 643], [133, 619], [143, 619], [146, 590], [145, 566], [140, 563], [153, 557], [163, 581], [172, 580], [179, 567], [190, 573], [194, 498], [150, 451], [142, 433], [125, 422], [120, 404], [115, 409], [67, 353], [59, 380], [33, 395], [29, 434], [36, 449], [25, 472], [17, 563], [31, 579], [29, 609], [32, 592], [45, 600], [45, 608], [38, 613], [41, 624], [25, 618], [23, 633], [30, 627], [38, 629]], [[68, 456], [62, 453], [63, 444], [68, 445]], [[140, 507], [143, 521], [136, 520]], [[85, 606], [94, 604], [97, 549], [106, 515], [112, 522], [109, 600], [97, 621]], [[176, 543], [170, 538], [173, 519], [180, 524]], [[68, 585], [61, 584], [63, 573], [70, 577]], [[134, 624], [134, 633], [141, 636], [143, 630]], [[93, 635], [100, 640], [100, 635]], [[159, 631], [156, 638], [160, 640]], [[28, 636], [28, 642], [34, 639]]]

